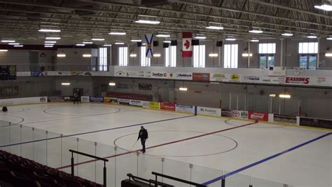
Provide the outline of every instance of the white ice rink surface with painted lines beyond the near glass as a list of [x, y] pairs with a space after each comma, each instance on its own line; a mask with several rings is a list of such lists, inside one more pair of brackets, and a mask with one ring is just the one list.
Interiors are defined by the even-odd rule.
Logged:
[[[226, 171], [251, 165], [328, 133], [267, 123], [237, 127], [251, 122], [111, 104], [32, 104], [8, 109], [7, 113], [0, 113], [0, 120], [73, 135], [117, 146], [124, 151], [141, 147], [139, 142], [134, 147], [132, 145], [144, 124], [149, 133], [147, 147], [170, 143], [148, 148], [146, 155]], [[207, 134], [221, 130], [224, 131]], [[202, 134], [205, 135], [197, 137]], [[293, 186], [332, 186], [332, 135], [240, 173]]]

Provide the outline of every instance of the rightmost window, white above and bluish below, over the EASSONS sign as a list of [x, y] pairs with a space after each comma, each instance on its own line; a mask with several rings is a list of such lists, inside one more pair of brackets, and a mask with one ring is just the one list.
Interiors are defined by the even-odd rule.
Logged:
[[317, 68], [318, 42], [298, 43], [298, 54], [300, 54], [300, 67], [305, 69]]

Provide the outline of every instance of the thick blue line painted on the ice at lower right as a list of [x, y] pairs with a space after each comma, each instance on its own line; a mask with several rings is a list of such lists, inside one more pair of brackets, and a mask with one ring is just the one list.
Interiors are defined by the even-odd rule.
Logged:
[[328, 137], [329, 135], [331, 135], [332, 134], [332, 132], [329, 132], [329, 133], [327, 133], [327, 134], [323, 134], [323, 135], [321, 135], [320, 137], [317, 137], [317, 138], [315, 138], [315, 139], [311, 139], [311, 140], [309, 140], [309, 141], [305, 141], [303, 144], [299, 144], [298, 146], [293, 146], [292, 148], [289, 148], [289, 149], [287, 149], [287, 150], [285, 150], [285, 151], [282, 151], [282, 152], [280, 152], [280, 153], [277, 153], [277, 154], [275, 154], [275, 155], [272, 155], [272, 156], [270, 156], [270, 157], [268, 157], [268, 158], [264, 158], [264, 159], [262, 159], [262, 160], [259, 160], [259, 161], [257, 161], [257, 162], [254, 162], [254, 163], [252, 163], [251, 165], [247, 165], [247, 166], [244, 166], [244, 167], [241, 167], [240, 169], [236, 169], [235, 171], [233, 171], [233, 172], [229, 172], [228, 174], [224, 174], [224, 175], [222, 175], [222, 176], [219, 176], [219, 177], [217, 177], [216, 179], [212, 179], [211, 181], [207, 181], [207, 182], [205, 182], [205, 183], [202, 183], [202, 185], [209, 185], [209, 184], [211, 184], [211, 183], [214, 183], [214, 182], [216, 182], [216, 181], [220, 181], [220, 180], [222, 180], [222, 179], [226, 179], [228, 176], [232, 176], [233, 174], [237, 174], [238, 172], [242, 172], [243, 170], [245, 170], [245, 169], [249, 169], [250, 167], [254, 167], [254, 166], [256, 166], [256, 165], [259, 165], [259, 164], [261, 164], [261, 163], [263, 163], [263, 162], [266, 162], [266, 161], [268, 161], [268, 160], [271, 160], [271, 159], [273, 159], [273, 158], [276, 158], [276, 157], [278, 157], [279, 155], [283, 155], [284, 153], [289, 153], [290, 151], [294, 151], [295, 149], [297, 149], [297, 148], [300, 148], [300, 147], [302, 147], [302, 146], [305, 146], [305, 145], [307, 145], [307, 144], [311, 144], [312, 142], [314, 142], [314, 141], [317, 141], [317, 140], [319, 140], [319, 139], [322, 139], [322, 138], [324, 138], [324, 137]]

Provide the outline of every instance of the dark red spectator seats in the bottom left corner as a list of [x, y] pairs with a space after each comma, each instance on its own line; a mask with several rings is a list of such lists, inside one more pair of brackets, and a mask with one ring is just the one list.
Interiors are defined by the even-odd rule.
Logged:
[[0, 186], [93, 186], [102, 185], [41, 165], [18, 155], [0, 151]]

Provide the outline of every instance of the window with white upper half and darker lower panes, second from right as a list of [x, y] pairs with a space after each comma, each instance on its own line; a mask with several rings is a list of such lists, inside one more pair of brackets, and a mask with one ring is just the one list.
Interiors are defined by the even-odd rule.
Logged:
[[275, 66], [275, 43], [259, 43], [259, 67]]

